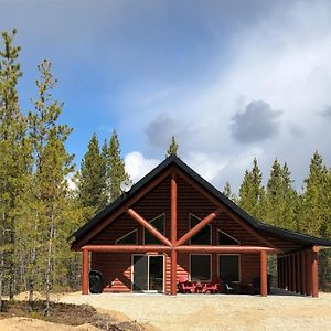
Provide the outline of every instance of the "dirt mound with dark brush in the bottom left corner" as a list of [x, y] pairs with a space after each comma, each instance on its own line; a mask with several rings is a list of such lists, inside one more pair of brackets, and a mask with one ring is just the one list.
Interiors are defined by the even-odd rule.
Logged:
[[[19, 300], [21, 298], [21, 300]], [[0, 312], [0, 330], [124, 330], [141, 331], [146, 328], [129, 320], [120, 312], [97, 311], [88, 305], [50, 302], [49, 314], [45, 314], [46, 302], [36, 299], [29, 305], [24, 295], [15, 300], [3, 300]]]

